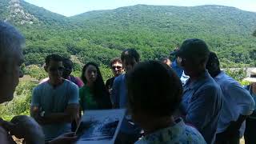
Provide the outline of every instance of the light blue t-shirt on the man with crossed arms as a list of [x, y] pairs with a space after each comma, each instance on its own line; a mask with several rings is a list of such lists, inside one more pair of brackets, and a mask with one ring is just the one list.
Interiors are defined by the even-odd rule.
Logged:
[[[43, 82], [34, 88], [31, 106], [39, 106], [47, 113], [63, 113], [69, 104], [78, 104], [78, 86], [73, 82], [64, 80], [57, 87]], [[70, 132], [69, 122], [42, 125], [46, 140], [56, 138], [60, 134]]]

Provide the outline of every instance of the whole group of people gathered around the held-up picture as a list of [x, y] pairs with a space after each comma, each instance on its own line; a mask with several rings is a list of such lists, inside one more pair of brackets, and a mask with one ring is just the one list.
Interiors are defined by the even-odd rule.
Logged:
[[[22, 77], [24, 38], [0, 22], [0, 103], [11, 101]], [[103, 81], [94, 62], [71, 75], [73, 64], [58, 54], [46, 57], [45, 78], [33, 90], [30, 116], [0, 119], [0, 143], [71, 143], [86, 110], [126, 109], [115, 143], [236, 144], [244, 135], [255, 144], [256, 70], [250, 86], [241, 86], [220, 69], [217, 54], [198, 38], [186, 39], [172, 52], [174, 62], [140, 62], [126, 49], [110, 62], [114, 77]], [[71, 133], [70, 133], [71, 132]]]

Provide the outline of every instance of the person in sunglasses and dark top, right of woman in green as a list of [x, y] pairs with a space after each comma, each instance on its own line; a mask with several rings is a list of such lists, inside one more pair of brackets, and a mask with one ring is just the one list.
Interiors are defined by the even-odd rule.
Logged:
[[111, 98], [114, 78], [117, 78], [120, 74], [123, 73], [121, 59], [120, 58], [113, 58], [110, 62], [110, 67], [111, 67], [112, 73], [114, 74], [114, 77], [109, 78], [108, 80], [106, 80], [106, 90], [109, 92], [110, 98]]

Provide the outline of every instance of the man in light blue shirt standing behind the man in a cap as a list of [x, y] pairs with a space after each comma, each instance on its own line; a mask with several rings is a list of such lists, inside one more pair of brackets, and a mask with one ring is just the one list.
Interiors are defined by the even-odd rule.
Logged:
[[206, 69], [219, 84], [223, 94], [216, 143], [239, 143], [245, 131], [244, 121], [254, 110], [254, 99], [237, 81], [220, 70], [218, 57], [214, 52], [210, 52]]

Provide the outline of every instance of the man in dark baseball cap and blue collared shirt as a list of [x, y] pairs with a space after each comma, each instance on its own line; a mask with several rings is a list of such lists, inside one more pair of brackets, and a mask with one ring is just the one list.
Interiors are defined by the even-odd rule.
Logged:
[[187, 39], [176, 50], [190, 76], [183, 90], [180, 110], [185, 121], [195, 126], [208, 144], [213, 144], [222, 109], [222, 90], [206, 70], [210, 50], [200, 39]]

